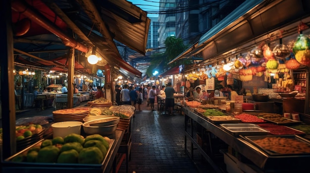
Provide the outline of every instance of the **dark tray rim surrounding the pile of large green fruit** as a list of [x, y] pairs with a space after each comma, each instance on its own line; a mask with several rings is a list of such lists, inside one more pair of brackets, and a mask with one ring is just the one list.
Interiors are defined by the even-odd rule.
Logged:
[[[115, 139], [110, 139], [109, 141], [109, 147], [107, 149], [107, 153], [103, 159], [103, 162], [101, 164], [60, 164], [60, 163], [30, 163], [30, 162], [12, 162], [12, 159], [16, 157], [19, 154], [27, 153], [28, 150], [34, 146], [40, 146], [42, 141], [44, 139], [39, 140], [35, 144], [25, 148], [22, 151], [19, 151], [18, 153], [14, 154], [13, 156], [5, 159], [3, 161], [3, 165], [5, 167], [14, 167], [16, 170], [20, 170], [18, 168], [23, 168], [24, 173], [28, 172], [38, 172], [43, 171], [47, 169], [52, 169], [54, 172], [57, 173], [68, 173], [68, 171], [76, 172], [76, 173], [82, 173], [85, 171], [91, 171], [92, 173], [102, 173], [103, 172], [103, 164], [107, 161], [107, 158], [111, 154], [111, 148], [113, 143], [115, 142]], [[28, 170], [28, 171], [27, 171]]]

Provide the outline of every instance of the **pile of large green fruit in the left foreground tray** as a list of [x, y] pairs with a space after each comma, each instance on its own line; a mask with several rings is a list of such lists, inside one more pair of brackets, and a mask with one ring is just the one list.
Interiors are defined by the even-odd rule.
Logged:
[[45, 139], [12, 158], [13, 162], [102, 164], [110, 139], [95, 134], [84, 138], [70, 134], [65, 138]]

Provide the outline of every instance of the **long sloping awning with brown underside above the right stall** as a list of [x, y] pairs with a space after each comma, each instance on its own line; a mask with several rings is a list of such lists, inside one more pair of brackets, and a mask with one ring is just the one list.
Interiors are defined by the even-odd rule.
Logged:
[[246, 0], [169, 64], [201, 52], [205, 61], [237, 48], [244, 51], [241, 45], [261, 42], [262, 35], [309, 15], [310, 3], [304, 0]]

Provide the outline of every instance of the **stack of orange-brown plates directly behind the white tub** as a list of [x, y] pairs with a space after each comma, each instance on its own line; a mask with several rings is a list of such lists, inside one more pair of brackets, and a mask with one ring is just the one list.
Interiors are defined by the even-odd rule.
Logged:
[[63, 121], [81, 121], [89, 113], [89, 108], [73, 108], [73, 109], [61, 109], [53, 111], [53, 120], [55, 122]]

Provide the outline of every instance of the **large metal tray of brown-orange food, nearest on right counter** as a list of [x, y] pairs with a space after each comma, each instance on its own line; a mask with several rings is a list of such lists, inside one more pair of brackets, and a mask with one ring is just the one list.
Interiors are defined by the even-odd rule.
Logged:
[[[296, 136], [296, 135], [282, 135], [282, 136], [246, 136], [242, 137], [246, 140], [250, 141], [252, 144], [260, 148], [265, 153], [271, 155], [271, 156], [284, 156], [284, 155], [310, 155], [310, 141]], [[255, 142], [256, 140], [262, 140], [263, 141], [270, 141], [270, 144], [267, 144], [268, 142], [264, 142], [266, 146], [261, 146], [262, 144], [258, 144]], [[268, 140], [266, 140], [268, 139]], [[282, 142], [278, 142], [282, 141]], [[300, 151], [297, 148], [301, 148], [303, 146], [306, 147], [303, 149], [300, 149]], [[269, 147], [271, 147], [269, 149]], [[283, 153], [279, 151], [284, 151]], [[290, 152], [292, 151], [292, 152]]]

